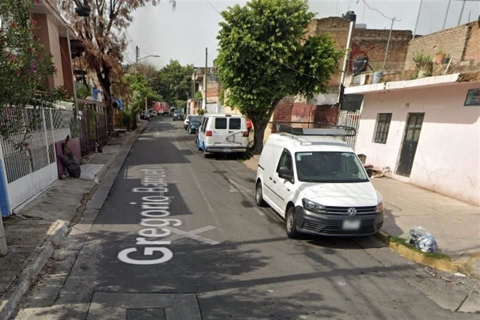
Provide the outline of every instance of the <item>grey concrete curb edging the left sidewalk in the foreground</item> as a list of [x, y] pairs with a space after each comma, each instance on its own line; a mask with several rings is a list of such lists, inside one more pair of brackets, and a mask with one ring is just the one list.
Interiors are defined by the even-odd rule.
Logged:
[[[54, 225], [54, 226], [53, 226]], [[53, 229], [48, 234], [30, 261], [25, 265], [13, 281], [10, 287], [3, 293], [3, 300], [0, 302], [0, 319], [8, 319], [15, 311], [22, 296], [28, 291], [30, 285], [35, 281], [41, 268], [52, 256], [55, 248], [66, 237], [69, 232], [65, 221], [56, 220], [52, 224]]]

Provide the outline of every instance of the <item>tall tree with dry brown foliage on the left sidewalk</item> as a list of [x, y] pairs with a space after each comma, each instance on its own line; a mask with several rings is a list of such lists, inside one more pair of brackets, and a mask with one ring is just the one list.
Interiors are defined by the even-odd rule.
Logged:
[[[84, 61], [96, 73], [103, 91], [107, 110], [107, 128], [113, 131], [112, 77], [120, 74], [123, 51], [126, 48], [126, 28], [133, 20], [132, 12], [147, 3], [159, 0], [59, 0], [60, 7], [71, 22], [78, 39], [85, 47]], [[169, 0], [174, 7], [175, 1]], [[75, 13], [82, 5], [90, 9], [87, 17]]]

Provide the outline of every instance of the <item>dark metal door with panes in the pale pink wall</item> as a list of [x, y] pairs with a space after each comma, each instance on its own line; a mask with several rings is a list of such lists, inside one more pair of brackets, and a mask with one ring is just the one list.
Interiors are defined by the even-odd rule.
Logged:
[[397, 174], [410, 176], [424, 115], [425, 113], [408, 113], [405, 134], [400, 149], [400, 158], [396, 169]]

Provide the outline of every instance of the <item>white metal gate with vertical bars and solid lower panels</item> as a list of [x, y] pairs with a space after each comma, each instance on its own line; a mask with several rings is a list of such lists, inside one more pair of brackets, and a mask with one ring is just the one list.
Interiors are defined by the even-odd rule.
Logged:
[[10, 211], [58, 178], [55, 142], [70, 134], [70, 111], [53, 108], [18, 109], [25, 124], [32, 123], [29, 136], [24, 132], [1, 138], [1, 152]]

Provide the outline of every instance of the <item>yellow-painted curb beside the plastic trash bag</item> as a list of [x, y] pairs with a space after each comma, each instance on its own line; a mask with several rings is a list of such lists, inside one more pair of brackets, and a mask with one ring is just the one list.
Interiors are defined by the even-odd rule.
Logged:
[[420, 252], [412, 250], [404, 245], [390, 241], [390, 235], [384, 231], [379, 231], [375, 234], [375, 237], [389, 246], [393, 251], [413, 262], [447, 272], [461, 272], [470, 275], [473, 271], [474, 257], [468, 258], [465, 262], [437, 259], [431, 256], [425, 256]]

